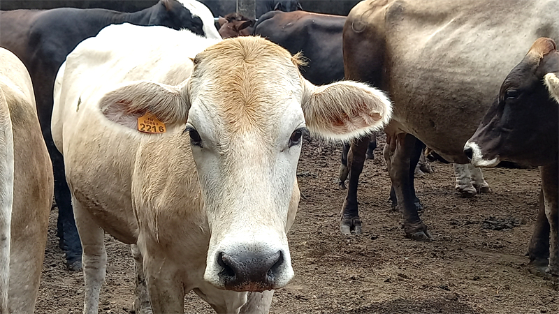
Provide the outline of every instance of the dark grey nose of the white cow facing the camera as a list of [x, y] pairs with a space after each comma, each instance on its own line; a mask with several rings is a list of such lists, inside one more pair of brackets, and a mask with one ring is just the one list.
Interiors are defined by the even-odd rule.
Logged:
[[277, 272], [284, 263], [282, 251], [275, 253], [242, 252], [217, 255], [217, 264], [223, 269], [219, 278], [227, 290], [259, 291], [275, 287]]

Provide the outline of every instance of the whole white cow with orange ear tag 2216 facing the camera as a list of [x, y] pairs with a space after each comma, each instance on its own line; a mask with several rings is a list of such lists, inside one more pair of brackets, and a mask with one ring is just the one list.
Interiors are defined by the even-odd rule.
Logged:
[[[133, 244], [154, 313], [182, 313], [190, 290], [219, 313], [268, 312], [293, 277], [286, 232], [303, 130], [349, 140], [391, 117], [382, 92], [314, 86], [300, 62], [259, 37], [130, 24], [68, 55], [52, 135], [83, 246], [84, 313], [97, 313], [103, 230]], [[138, 130], [154, 124], [165, 133]], [[138, 313], [149, 303], [136, 293]]]

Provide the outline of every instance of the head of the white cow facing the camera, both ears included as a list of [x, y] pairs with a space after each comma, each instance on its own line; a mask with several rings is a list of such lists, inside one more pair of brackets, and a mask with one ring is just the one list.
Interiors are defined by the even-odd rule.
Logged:
[[190, 143], [211, 232], [204, 278], [217, 287], [270, 290], [293, 276], [286, 232], [305, 130], [351, 140], [391, 117], [381, 91], [349, 81], [317, 87], [299, 64], [269, 40], [230, 38], [199, 53], [179, 86], [135, 82], [101, 100], [108, 119], [134, 130], [145, 112], [182, 125], [173, 134]]

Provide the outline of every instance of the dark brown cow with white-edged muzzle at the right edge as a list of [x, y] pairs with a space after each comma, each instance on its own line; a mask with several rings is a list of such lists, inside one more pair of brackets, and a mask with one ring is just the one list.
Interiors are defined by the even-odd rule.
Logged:
[[474, 165], [539, 166], [542, 190], [528, 255], [532, 273], [559, 276], [559, 52], [539, 38], [504, 79], [464, 152]]

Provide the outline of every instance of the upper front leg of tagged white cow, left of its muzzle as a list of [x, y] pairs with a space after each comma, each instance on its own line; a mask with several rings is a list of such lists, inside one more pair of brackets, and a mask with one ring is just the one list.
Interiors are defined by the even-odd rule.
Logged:
[[184, 313], [184, 288], [181, 276], [168, 259], [143, 255], [145, 283], [153, 313]]

